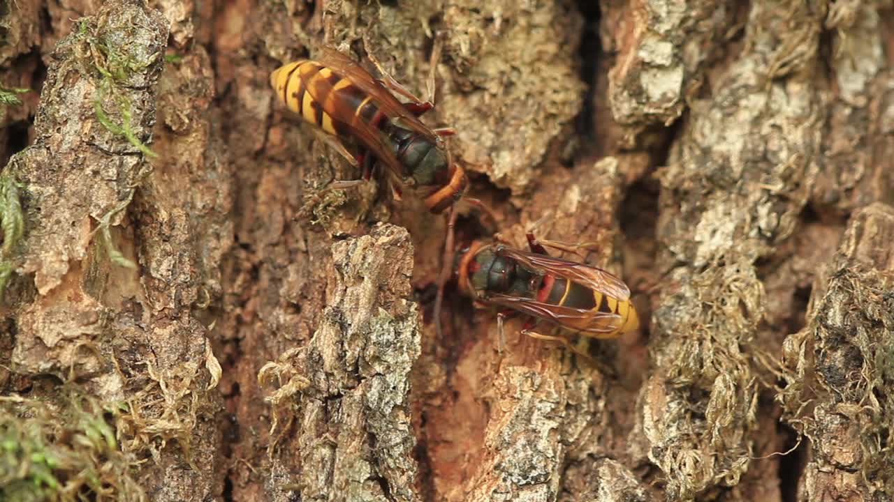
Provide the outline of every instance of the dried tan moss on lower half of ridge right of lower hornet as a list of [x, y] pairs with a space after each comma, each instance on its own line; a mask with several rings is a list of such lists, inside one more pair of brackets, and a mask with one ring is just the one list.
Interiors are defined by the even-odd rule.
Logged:
[[689, 498], [738, 484], [753, 456], [757, 385], [740, 344], [754, 337], [763, 291], [750, 266], [677, 279], [654, 314], [654, 330], [679, 334], [654, 355], [662, 372], [642, 391], [642, 430], [671, 496]]

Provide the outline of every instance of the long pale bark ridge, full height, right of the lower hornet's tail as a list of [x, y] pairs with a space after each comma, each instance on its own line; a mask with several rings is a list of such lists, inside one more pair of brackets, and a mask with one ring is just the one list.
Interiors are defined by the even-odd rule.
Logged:
[[669, 287], [653, 318], [657, 372], [640, 403], [645, 453], [662, 469], [671, 498], [735, 486], [755, 456], [753, 358], [767, 308], [755, 263], [797, 229], [804, 180], [817, 170], [822, 107], [813, 67], [798, 63], [807, 55], [774, 70], [786, 72], [784, 83], [768, 85], [765, 73], [781, 57], [775, 40], [812, 33], [805, 43], [815, 44], [811, 23], [820, 20], [798, 11], [793, 30], [788, 20], [770, 18], [769, 8], [748, 13], [746, 49], [710, 99], [690, 103], [659, 172], [659, 266]]

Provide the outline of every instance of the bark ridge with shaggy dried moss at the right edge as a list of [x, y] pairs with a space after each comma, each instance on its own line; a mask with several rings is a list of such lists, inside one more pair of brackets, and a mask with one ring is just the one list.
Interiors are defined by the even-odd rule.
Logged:
[[804, 330], [786, 339], [780, 402], [814, 445], [808, 498], [894, 495], [894, 209], [851, 218], [839, 251], [817, 275]]

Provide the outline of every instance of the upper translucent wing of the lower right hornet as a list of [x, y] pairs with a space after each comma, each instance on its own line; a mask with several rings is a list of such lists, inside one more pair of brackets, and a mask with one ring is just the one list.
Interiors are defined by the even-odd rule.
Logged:
[[527, 267], [551, 273], [568, 280], [574, 280], [587, 288], [595, 289], [603, 295], [614, 297], [620, 301], [630, 299], [630, 289], [628, 289], [627, 284], [624, 284], [623, 280], [618, 279], [611, 273], [603, 271], [603, 269], [504, 246], [497, 247], [496, 253], [497, 255], [509, 256]]

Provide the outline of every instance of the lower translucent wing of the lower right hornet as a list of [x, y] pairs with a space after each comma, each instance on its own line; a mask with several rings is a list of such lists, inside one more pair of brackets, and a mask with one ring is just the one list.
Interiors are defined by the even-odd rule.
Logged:
[[595, 338], [611, 336], [620, 330], [624, 324], [624, 319], [618, 314], [544, 304], [531, 298], [489, 295], [486, 301], [519, 311], [522, 314], [533, 315], [539, 319], [554, 322], [563, 328], [579, 331]]

